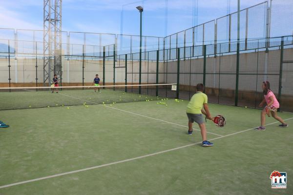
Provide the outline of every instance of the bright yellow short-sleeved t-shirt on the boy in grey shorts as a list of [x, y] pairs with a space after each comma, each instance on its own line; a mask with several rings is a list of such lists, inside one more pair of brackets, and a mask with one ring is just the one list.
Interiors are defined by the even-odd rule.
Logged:
[[191, 97], [186, 112], [190, 114], [201, 114], [204, 103], [208, 103], [208, 96], [202, 92], [197, 92]]

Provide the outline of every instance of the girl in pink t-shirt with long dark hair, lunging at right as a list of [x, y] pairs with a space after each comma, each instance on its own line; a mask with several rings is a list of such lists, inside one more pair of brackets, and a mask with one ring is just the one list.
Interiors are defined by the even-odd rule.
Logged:
[[[264, 99], [259, 104], [259, 107], [263, 107], [264, 103], [266, 103], [267, 104], [266, 107], [270, 110], [272, 117], [274, 117], [275, 119], [277, 119], [278, 121], [282, 123], [279, 125], [279, 127], [288, 127], [288, 124], [286, 124], [281, 117], [277, 116], [277, 109], [280, 107], [280, 104], [270, 89], [270, 82], [264, 81], [261, 87], [263, 89]], [[261, 117], [260, 117], [261, 124], [259, 127], [255, 128], [255, 130], [260, 130], [260, 131], [266, 130], [265, 128], [266, 114], [267, 114], [266, 107], [261, 112]]]

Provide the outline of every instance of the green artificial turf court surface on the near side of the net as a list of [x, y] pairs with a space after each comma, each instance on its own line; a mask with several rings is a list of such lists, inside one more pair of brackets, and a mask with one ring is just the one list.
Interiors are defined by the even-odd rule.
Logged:
[[292, 113], [279, 113], [288, 128], [267, 117], [262, 132], [253, 130], [260, 110], [209, 104], [227, 124], [218, 128], [208, 121], [214, 146], [203, 148], [199, 131], [187, 135], [187, 104], [165, 98], [2, 110], [10, 127], [0, 134], [0, 194], [292, 192], [289, 182], [287, 189], [272, 191], [269, 177], [273, 170], [293, 175]]

